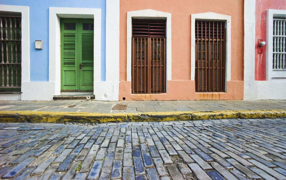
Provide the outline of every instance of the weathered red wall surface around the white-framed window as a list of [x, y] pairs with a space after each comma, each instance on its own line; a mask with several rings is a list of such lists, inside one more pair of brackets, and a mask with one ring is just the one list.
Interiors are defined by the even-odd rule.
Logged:
[[263, 53], [258, 54], [258, 39], [266, 39], [266, 10], [285, 10], [285, 0], [256, 0], [255, 7], [255, 80], [266, 80], [266, 46], [263, 46]]

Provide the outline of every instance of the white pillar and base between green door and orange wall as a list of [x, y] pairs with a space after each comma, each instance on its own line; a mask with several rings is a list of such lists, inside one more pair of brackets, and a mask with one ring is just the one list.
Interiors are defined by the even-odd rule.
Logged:
[[94, 79], [95, 100], [117, 101], [119, 96], [119, 0], [106, 0], [105, 53], [106, 79], [105, 81]]

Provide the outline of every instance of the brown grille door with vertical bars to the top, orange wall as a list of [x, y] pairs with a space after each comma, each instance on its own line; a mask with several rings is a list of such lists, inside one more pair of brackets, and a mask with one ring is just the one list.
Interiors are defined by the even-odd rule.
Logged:
[[225, 91], [226, 31], [223, 21], [195, 21], [196, 92]]

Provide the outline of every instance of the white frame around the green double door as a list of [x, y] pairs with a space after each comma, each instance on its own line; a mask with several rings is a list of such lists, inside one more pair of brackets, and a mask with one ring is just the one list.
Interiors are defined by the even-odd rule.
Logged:
[[[100, 81], [101, 9], [49, 7], [49, 82], [55, 84], [53, 95], [60, 94], [60, 18], [94, 19], [94, 81]], [[100, 91], [95, 84], [94, 91]]]

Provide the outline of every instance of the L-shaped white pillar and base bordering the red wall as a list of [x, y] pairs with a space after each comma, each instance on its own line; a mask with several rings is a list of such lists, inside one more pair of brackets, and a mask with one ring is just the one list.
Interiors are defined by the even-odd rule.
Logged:
[[257, 42], [255, 40], [255, 3], [255, 0], [244, 1], [244, 100], [286, 99], [286, 80], [268, 78], [266, 81], [255, 81], [254, 79], [255, 43]]

